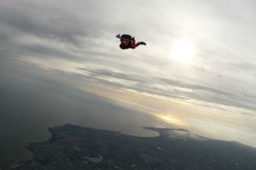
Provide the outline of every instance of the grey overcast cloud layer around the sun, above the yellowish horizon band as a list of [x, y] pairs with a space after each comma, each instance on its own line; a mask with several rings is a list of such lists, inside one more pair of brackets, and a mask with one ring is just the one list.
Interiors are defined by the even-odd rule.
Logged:
[[[255, 8], [253, 0], [2, 0], [0, 58], [113, 88], [256, 111]], [[148, 45], [120, 50], [118, 33]], [[195, 45], [189, 65], [169, 57], [179, 39]]]

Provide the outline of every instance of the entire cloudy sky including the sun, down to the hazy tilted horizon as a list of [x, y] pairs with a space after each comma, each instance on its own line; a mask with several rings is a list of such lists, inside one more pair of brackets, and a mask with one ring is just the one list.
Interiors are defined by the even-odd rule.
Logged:
[[[171, 124], [256, 146], [255, 8], [253, 0], [2, 0], [1, 82], [61, 77]], [[119, 49], [123, 33], [147, 46]]]

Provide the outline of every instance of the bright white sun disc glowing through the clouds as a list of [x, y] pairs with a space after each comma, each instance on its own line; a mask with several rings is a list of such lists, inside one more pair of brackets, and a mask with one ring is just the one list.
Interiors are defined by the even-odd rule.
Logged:
[[178, 40], [170, 49], [170, 58], [180, 63], [191, 63], [195, 57], [195, 46], [193, 42]]

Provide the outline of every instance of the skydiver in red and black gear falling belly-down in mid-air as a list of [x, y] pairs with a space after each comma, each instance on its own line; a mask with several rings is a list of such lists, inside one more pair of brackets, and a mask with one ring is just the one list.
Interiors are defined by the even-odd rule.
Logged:
[[135, 37], [131, 37], [130, 35], [127, 34], [123, 34], [122, 36], [120, 36], [120, 34], [118, 34], [116, 37], [118, 37], [120, 39], [120, 45], [119, 48], [121, 49], [128, 49], [128, 48], [137, 48], [137, 46], [139, 45], [146, 45], [145, 42], [137, 42], [135, 41]]

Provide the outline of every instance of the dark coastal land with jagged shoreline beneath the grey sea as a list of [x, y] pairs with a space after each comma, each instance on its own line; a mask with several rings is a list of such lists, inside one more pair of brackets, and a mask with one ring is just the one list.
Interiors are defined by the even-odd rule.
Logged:
[[28, 144], [34, 156], [12, 169], [256, 169], [256, 150], [252, 147], [207, 139], [184, 129], [145, 128], [160, 135], [136, 137], [70, 124], [50, 127], [52, 137]]

